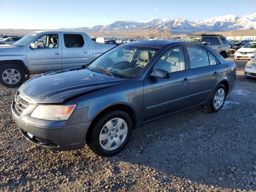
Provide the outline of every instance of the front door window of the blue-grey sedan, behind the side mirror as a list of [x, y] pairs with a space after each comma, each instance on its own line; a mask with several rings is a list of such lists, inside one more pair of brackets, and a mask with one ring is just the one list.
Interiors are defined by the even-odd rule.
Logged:
[[185, 70], [183, 47], [170, 48], [154, 64], [154, 69], [163, 69], [169, 73]]

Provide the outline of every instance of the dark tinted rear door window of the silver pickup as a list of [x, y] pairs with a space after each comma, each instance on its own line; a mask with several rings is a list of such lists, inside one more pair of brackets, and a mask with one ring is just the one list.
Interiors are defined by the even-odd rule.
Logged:
[[64, 34], [64, 44], [66, 47], [82, 47], [84, 38], [81, 34]]

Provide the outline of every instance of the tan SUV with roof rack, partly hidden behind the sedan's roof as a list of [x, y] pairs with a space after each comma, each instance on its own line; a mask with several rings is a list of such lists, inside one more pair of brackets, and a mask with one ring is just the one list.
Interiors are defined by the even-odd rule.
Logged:
[[228, 41], [226, 37], [219, 34], [188, 34], [186, 37], [182, 38], [185, 42], [196, 42], [209, 46], [216, 52], [218, 52], [222, 57], [230, 57], [230, 49], [228, 47]]

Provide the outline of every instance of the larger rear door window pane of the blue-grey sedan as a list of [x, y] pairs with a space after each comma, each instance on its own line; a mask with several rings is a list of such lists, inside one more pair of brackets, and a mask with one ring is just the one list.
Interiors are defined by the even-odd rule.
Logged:
[[208, 54], [204, 48], [190, 46], [188, 47], [188, 55], [191, 68], [209, 66]]

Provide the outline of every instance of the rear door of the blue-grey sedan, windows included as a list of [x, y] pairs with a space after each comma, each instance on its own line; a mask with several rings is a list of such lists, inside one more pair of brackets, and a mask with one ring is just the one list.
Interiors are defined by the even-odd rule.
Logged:
[[220, 80], [221, 70], [218, 59], [209, 50], [199, 46], [186, 46], [189, 55], [192, 105], [208, 98]]

